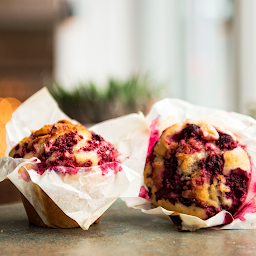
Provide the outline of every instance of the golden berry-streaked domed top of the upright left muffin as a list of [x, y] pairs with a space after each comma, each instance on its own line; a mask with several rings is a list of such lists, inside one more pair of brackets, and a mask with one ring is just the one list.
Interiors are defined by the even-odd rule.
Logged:
[[93, 167], [119, 162], [119, 152], [100, 135], [84, 126], [61, 120], [32, 131], [9, 153], [13, 158], [37, 157], [39, 172], [54, 166]]

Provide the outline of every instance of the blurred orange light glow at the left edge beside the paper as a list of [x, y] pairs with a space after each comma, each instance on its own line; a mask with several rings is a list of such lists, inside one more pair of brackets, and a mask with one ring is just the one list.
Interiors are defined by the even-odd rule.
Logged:
[[12, 113], [21, 104], [15, 98], [0, 98], [0, 157], [5, 155], [6, 150], [6, 130], [5, 125], [12, 118]]

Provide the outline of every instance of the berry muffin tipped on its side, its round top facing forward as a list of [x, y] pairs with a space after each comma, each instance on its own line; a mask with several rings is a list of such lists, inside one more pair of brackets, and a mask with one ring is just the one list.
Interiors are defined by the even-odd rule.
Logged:
[[163, 131], [147, 158], [144, 186], [154, 206], [206, 220], [222, 210], [235, 215], [250, 176], [239, 138], [219, 125], [187, 120]]

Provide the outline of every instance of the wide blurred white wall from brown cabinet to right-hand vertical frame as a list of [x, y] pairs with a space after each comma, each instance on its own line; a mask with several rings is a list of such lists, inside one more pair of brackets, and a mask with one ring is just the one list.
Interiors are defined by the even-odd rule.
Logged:
[[56, 37], [56, 78], [67, 87], [148, 73], [167, 84], [168, 97], [237, 110], [230, 1], [70, 2], [80, 16], [63, 21]]

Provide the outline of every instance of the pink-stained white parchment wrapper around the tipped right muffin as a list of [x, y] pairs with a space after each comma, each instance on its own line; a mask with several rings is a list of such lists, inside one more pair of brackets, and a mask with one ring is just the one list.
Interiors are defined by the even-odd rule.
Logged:
[[[183, 122], [186, 119], [208, 120], [212, 123], [219, 123], [232, 131], [234, 134], [242, 138], [240, 142], [246, 145], [246, 151], [251, 157], [253, 165], [256, 162], [256, 120], [253, 118], [237, 114], [230, 111], [204, 108], [189, 104], [178, 99], [164, 99], [155, 103], [146, 117], [148, 125], [156, 128], [161, 132], [177, 122]], [[158, 126], [153, 127], [158, 120]], [[141, 185], [143, 185], [143, 169], [139, 171], [142, 177]], [[222, 211], [214, 217], [202, 220], [191, 215], [167, 211], [162, 207], [152, 209], [150, 200], [146, 200], [139, 196], [124, 198], [127, 206], [141, 209], [144, 213], [173, 221], [179, 230], [196, 230], [200, 228], [215, 227], [218, 229], [254, 229], [256, 228], [256, 171], [252, 167], [251, 181], [246, 201], [239, 211], [232, 216], [226, 211]]]

